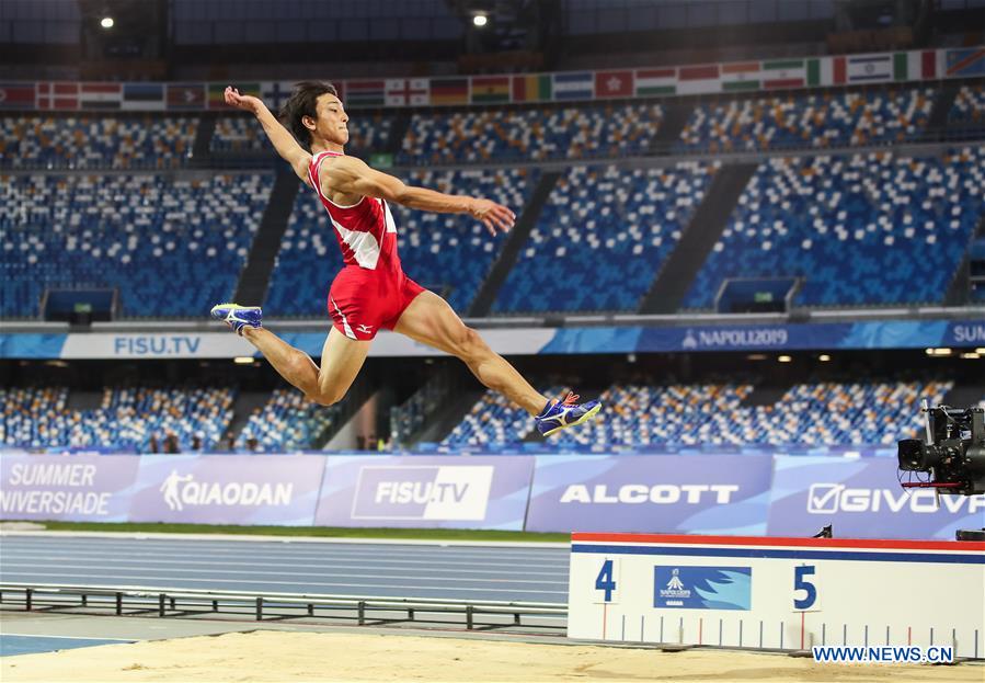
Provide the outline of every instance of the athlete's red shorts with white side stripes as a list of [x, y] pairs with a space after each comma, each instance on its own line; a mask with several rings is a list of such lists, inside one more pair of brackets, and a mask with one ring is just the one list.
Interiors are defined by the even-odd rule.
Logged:
[[370, 271], [346, 265], [329, 289], [332, 323], [350, 339], [370, 340], [380, 328], [392, 330], [424, 287], [403, 271]]

